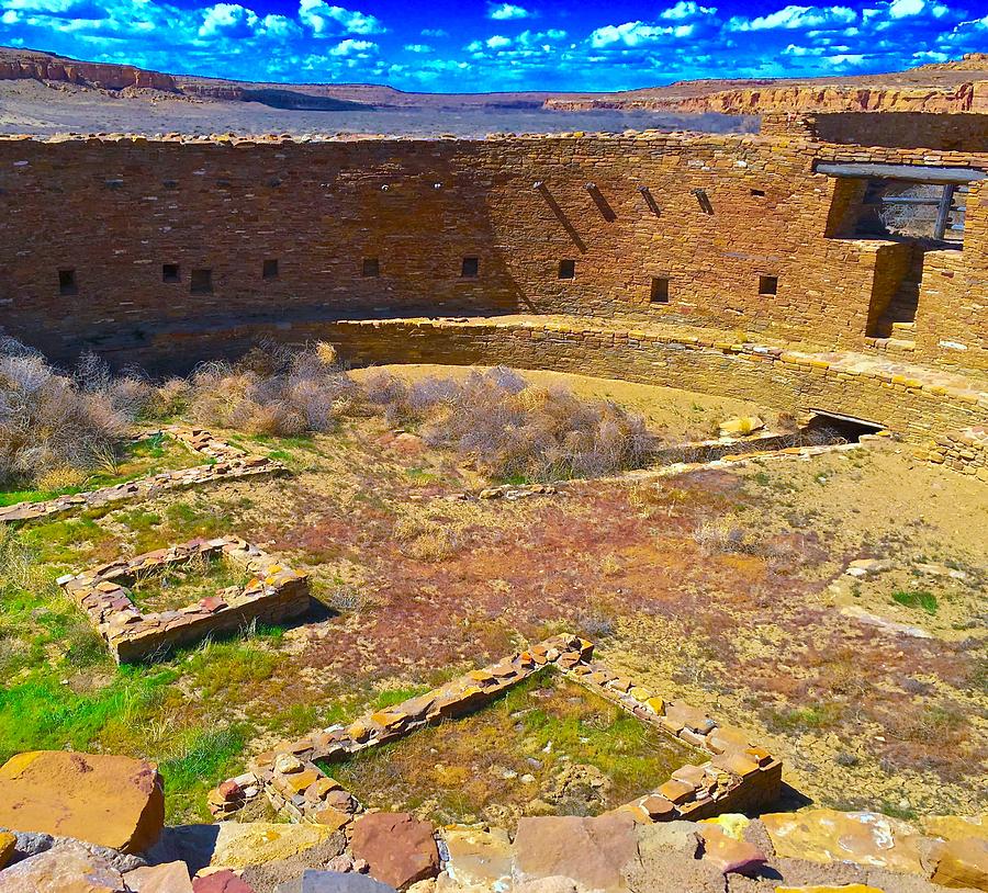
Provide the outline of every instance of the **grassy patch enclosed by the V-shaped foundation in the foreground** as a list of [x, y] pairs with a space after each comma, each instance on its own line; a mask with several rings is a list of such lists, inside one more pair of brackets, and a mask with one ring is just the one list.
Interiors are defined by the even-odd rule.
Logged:
[[703, 760], [682, 742], [547, 670], [473, 715], [324, 768], [372, 807], [409, 809], [440, 824], [481, 817], [505, 826], [535, 799], [559, 814], [597, 814], [652, 790], [684, 764]]

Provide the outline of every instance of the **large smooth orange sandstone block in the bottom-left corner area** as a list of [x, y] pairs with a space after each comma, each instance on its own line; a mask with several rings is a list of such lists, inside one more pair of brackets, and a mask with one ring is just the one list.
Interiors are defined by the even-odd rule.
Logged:
[[0, 827], [141, 852], [164, 825], [164, 782], [145, 760], [32, 750], [0, 767]]

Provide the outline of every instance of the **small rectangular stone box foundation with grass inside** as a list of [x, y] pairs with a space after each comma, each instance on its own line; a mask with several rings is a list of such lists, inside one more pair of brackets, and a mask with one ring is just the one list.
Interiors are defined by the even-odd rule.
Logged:
[[[254, 577], [239, 592], [210, 596], [176, 611], [142, 613], [130, 586], [142, 576], [195, 558], [223, 556]], [[308, 609], [307, 575], [236, 536], [193, 540], [68, 575], [59, 585], [88, 614], [119, 664], [165, 654], [251, 622], [277, 623]]]

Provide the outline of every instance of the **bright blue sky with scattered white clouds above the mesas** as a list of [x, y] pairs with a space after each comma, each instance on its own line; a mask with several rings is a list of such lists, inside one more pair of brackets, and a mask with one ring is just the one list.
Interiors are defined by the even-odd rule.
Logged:
[[854, 75], [988, 49], [984, 0], [707, 2], [0, 0], [0, 43], [173, 72], [430, 92]]

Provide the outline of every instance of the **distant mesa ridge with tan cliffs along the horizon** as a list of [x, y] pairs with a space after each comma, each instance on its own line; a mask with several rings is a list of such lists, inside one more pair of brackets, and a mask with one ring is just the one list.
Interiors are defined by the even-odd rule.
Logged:
[[153, 90], [176, 98], [259, 102], [299, 111], [375, 108], [548, 109], [678, 114], [783, 112], [988, 112], [988, 53], [907, 71], [823, 78], [680, 81], [614, 93], [409, 93], [372, 83], [249, 82], [87, 63], [32, 49], [0, 47], [0, 80], [34, 79], [101, 90]]

